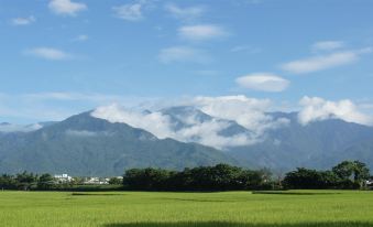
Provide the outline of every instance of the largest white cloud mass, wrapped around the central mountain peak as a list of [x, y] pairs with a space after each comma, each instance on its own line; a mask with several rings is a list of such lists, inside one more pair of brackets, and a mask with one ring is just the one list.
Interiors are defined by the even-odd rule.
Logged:
[[[288, 119], [274, 119], [266, 111], [271, 101], [245, 96], [196, 97], [184, 102], [191, 109], [172, 111], [140, 111], [119, 105], [97, 108], [91, 115], [110, 122], [128, 123], [134, 128], [150, 131], [160, 139], [173, 138], [184, 142], [198, 142], [217, 149], [249, 145], [265, 139], [267, 130], [286, 127]], [[196, 110], [199, 111], [196, 111]], [[209, 115], [206, 118], [201, 114]], [[175, 120], [177, 119], [177, 120]], [[230, 127], [243, 127], [224, 136]]]

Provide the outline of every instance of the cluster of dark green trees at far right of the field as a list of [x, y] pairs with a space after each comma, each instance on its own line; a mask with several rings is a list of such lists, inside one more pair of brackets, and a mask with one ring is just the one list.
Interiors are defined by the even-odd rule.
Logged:
[[370, 170], [359, 161], [343, 161], [328, 171], [298, 167], [285, 175], [283, 185], [292, 190], [356, 190], [366, 187]]

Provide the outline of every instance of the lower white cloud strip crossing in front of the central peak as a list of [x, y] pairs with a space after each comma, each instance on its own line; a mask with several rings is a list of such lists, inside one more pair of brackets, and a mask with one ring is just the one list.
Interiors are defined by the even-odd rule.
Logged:
[[[257, 142], [256, 134], [249, 132], [235, 133], [229, 137], [222, 136], [220, 132], [231, 127], [231, 121], [218, 118], [200, 120], [200, 116], [196, 112], [183, 114], [179, 118], [162, 111], [130, 110], [118, 105], [111, 105], [99, 107], [91, 115], [110, 122], [122, 122], [134, 128], [144, 129], [160, 139], [173, 138], [183, 142], [198, 142], [217, 149]], [[176, 127], [177, 122], [172, 117], [178, 118], [183, 122], [183, 127]]]

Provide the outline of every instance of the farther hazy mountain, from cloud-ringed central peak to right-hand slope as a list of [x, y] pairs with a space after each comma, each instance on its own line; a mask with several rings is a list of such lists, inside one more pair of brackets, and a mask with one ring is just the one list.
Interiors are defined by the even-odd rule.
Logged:
[[[227, 123], [218, 131], [221, 139], [237, 134], [253, 137], [251, 130], [235, 121], [213, 118], [195, 107], [172, 107], [161, 112], [169, 117], [176, 133], [215, 120]], [[327, 169], [342, 160], [356, 159], [366, 162], [373, 170], [372, 127], [339, 119], [304, 126], [298, 121], [298, 112], [267, 112], [266, 116], [272, 122], [285, 119], [286, 123], [266, 129], [259, 134], [255, 143], [223, 148], [241, 165], [288, 171], [297, 166]], [[198, 142], [198, 139], [195, 141]]]

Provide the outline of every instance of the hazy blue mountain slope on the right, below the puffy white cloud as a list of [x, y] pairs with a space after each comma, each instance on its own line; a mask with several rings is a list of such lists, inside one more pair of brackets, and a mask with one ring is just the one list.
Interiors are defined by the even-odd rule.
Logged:
[[254, 145], [237, 147], [230, 154], [249, 166], [290, 170], [296, 166], [327, 169], [352, 159], [373, 169], [373, 128], [329, 119], [303, 126], [297, 112], [270, 114], [287, 118], [289, 123], [266, 132], [265, 140]]

